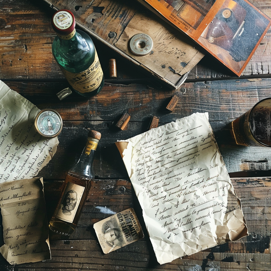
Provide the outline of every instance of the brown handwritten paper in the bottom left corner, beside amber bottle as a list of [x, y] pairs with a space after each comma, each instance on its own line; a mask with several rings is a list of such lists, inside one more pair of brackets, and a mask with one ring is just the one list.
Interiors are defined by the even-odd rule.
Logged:
[[51, 258], [42, 178], [0, 185], [5, 244], [1, 254], [10, 264]]

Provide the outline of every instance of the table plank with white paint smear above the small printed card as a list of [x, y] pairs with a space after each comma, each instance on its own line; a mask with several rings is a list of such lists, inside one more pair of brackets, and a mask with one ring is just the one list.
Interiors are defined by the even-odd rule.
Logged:
[[[128, 180], [128, 178], [127, 180], [97, 179], [92, 183], [78, 227], [71, 236], [72, 239], [95, 238], [95, 233], [89, 231], [90, 226], [98, 220], [128, 208], [135, 209], [146, 233], [141, 208], [138, 205], [131, 182]], [[235, 192], [241, 200], [250, 235], [238, 241], [223, 244], [223, 252], [270, 253], [271, 177], [231, 178], [231, 180]], [[46, 180], [45, 182], [44, 190], [48, 218], [51, 217], [54, 206], [57, 204], [61, 184], [62, 181]], [[212, 251], [216, 252], [215, 249]]]

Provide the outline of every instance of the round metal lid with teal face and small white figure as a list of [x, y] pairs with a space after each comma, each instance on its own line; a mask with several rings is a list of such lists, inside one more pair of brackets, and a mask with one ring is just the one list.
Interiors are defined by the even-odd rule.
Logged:
[[44, 137], [56, 137], [62, 130], [62, 118], [53, 109], [41, 110], [35, 119], [35, 128]]

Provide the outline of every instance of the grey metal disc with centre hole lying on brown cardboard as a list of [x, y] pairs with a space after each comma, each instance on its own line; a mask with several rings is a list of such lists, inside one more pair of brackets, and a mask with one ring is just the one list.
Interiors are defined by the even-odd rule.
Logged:
[[146, 56], [153, 47], [153, 40], [144, 33], [135, 34], [129, 42], [130, 50], [137, 56]]

